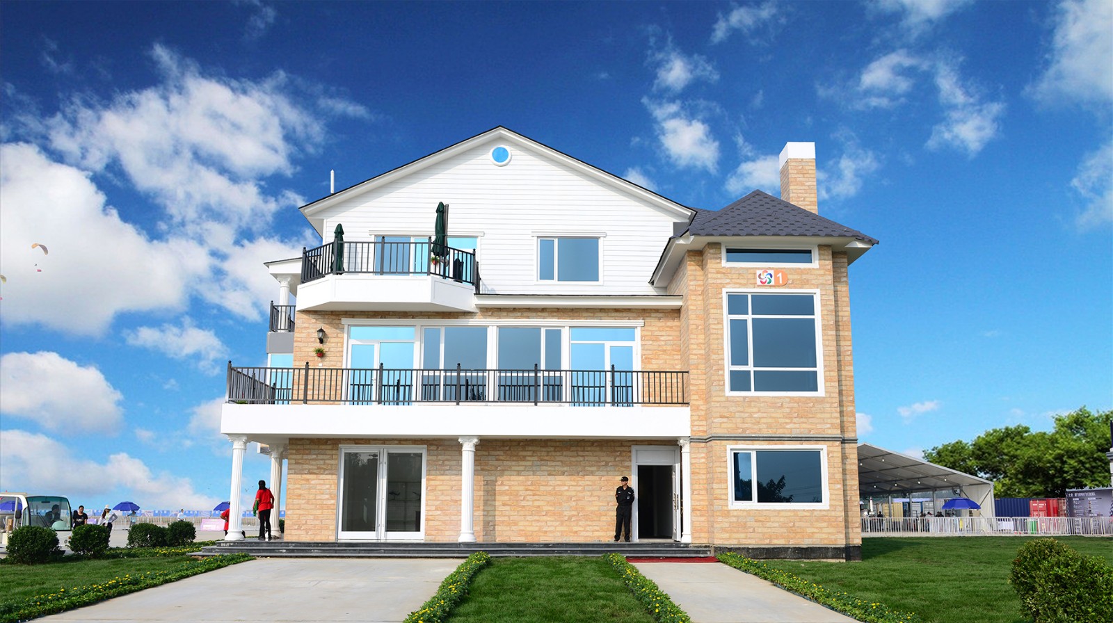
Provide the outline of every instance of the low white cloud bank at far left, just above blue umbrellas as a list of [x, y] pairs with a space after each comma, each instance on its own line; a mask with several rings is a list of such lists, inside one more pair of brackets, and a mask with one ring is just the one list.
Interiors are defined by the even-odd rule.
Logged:
[[96, 498], [119, 488], [145, 508], [211, 508], [219, 502], [195, 492], [189, 478], [152, 472], [127, 453], [112, 454], [104, 462], [77, 458], [71, 448], [46, 435], [18, 429], [0, 431], [0, 490]]

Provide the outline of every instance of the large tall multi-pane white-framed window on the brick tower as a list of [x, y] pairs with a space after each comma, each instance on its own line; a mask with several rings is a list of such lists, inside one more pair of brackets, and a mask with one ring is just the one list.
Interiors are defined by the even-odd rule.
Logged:
[[727, 392], [818, 393], [815, 294], [727, 293]]

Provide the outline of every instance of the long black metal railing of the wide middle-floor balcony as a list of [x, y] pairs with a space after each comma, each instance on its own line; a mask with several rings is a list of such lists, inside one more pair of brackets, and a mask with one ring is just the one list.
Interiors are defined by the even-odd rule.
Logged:
[[687, 405], [687, 372], [232, 367], [228, 402], [410, 405], [532, 403]]

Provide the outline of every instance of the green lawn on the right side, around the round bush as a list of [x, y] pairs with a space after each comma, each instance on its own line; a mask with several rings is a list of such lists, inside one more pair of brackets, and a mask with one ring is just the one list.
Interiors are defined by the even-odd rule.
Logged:
[[[1062, 536], [1082, 554], [1113, 563], [1113, 538]], [[860, 563], [770, 562], [800, 578], [840, 590], [925, 623], [1025, 623], [1008, 584], [1016, 551], [1027, 537], [864, 538]]]

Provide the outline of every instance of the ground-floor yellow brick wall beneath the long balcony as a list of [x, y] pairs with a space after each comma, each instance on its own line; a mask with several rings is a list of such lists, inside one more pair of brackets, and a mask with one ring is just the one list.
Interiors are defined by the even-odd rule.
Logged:
[[[425, 541], [460, 536], [462, 447], [457, 439], [290, 439], [287, 541], [336, 538], [341, 445], [426, 446]], [[473, 523], [480, 542], [609, 541], [614, 487], [644, 441], [481, 439], [475, 446]], [[677, 447], [669, 445], [667, 447]]]

